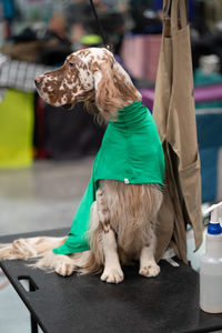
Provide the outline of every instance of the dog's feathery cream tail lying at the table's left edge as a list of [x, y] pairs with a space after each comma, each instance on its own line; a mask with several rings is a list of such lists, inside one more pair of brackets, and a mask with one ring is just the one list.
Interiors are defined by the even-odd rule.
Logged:
[[0, 260], [32, 259], [58, 248], [64, 243], [67, 236], [38, 236], [19, 239], [9, 244], [0, 244]]

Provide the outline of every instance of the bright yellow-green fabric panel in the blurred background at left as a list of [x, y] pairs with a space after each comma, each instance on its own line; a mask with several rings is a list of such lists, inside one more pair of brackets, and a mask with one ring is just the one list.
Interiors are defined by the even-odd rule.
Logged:
[[32, 163], [33, 93], [8, 89], [0, 102], [0, 169]]

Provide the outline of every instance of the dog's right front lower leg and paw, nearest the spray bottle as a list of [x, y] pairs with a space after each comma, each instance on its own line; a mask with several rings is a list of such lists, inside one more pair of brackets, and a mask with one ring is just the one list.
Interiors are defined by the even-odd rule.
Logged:
[[160, 266], [154, 260], [155, 236], [151, 230], [151, 241], [148, 246], [143, 246], [140, 254], [140, 275], [145, 278], [157, 276], [160, 273]]

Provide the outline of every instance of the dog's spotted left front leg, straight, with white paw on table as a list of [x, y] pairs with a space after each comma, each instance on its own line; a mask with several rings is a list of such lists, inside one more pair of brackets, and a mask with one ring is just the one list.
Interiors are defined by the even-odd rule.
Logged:
[[102, 281], [119, 283], [123, 280], [123, 272], [118, 256], [118, 245], [115, 235], [110, 226], [110, 211], [107, 204], [104, 192], [97, 191], [97, 209], [100, 223], [102, 223], [102, 248], [104, 254], [104, 271], [101, 275]]

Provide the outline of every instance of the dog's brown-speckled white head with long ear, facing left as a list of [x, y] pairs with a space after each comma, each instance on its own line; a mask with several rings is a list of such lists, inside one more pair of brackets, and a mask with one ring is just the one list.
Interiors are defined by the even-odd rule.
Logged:
[[88, 101], [110, 115], [140, 99], [130, 77], [104, 48], [73, 52], [61, 68], [37, 77], [36, 85], [40, 97], [51, 105], [70, 109]]

